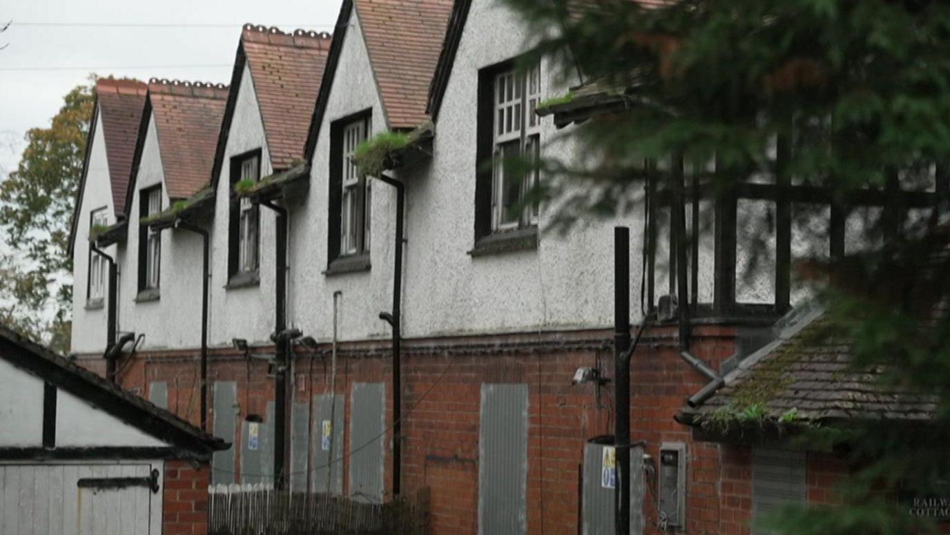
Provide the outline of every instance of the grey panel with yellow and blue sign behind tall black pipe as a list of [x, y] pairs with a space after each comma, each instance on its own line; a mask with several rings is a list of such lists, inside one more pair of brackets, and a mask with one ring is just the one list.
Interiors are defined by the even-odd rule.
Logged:
[[[602, 444], [584, 445], [583, 473], [583, 534], [615, 535], [614, 494], [615, 489], [603, 487], [600, 477], [603, 470]], [[643, 449], [630, 449], [630, 533], [643, 533]]]

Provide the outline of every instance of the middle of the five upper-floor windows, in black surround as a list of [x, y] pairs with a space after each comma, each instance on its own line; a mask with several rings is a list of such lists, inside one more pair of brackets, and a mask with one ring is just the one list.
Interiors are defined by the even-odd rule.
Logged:
[[232, 159], [231, 211], [228, 222], [228, 276], [232, 278], [253, 277], [257, 274], [260, 208], [257, 202], [238, 198], [234, 193], [234, 184], [241, 181], [257, 182], [259, 180], [259, 149]]

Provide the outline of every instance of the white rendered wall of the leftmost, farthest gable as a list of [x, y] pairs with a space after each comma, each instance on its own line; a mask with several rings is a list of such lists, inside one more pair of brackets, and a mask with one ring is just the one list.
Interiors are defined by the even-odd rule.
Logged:
[[[102, 111], [101, 109], [99, 110]], [[102, 353], [105, 350], [105, 307], [86, 309], [89, 273], [89, 215], [93, 210], [105, 208], [109, 224], [116, 222], [112, 203], [112, 184], [109, 181], [109, 166], [106, 160], [103, 122], [97, 114], [93, 125], [92, 146], [86, 162], [83, 203], [76, 221], [76, 236], [72, 251], [72, 353]], [[116, 246], [109, 246], [104, 253], [116, 257]], [[104, 301], [107, 301], [108, 282], [105, 283]]]

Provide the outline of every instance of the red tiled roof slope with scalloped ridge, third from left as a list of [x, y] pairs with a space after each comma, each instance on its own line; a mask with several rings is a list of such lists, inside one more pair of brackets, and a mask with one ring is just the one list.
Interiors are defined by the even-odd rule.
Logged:
[[264, 134], [275, 169], [303, 158], [331, 35], [244, 25], [241, 47], [251, 69]]

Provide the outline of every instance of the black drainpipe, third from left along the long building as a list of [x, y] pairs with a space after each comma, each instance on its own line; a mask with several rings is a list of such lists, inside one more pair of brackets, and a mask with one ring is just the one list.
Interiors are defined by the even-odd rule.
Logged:
[[[275, 280], [275, 327], [274, 358], [276, 370], [274, 377], [274, 487], [284, 488], [284, 459], [287, 447], [287, 368], [290, 355], [290, 338], [287, 333], [285, 309], [287, 289], [287, 210], [271, 201], [259, 201], [276, 212], [276, 280]], [[297, 334], [299, 335], [299, 334]]]

